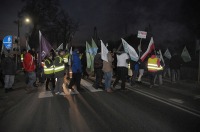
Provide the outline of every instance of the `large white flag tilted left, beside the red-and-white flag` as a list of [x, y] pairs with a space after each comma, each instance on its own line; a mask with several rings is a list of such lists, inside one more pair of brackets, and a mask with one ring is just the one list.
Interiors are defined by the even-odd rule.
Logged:
[[124, 47], [124, 51], [129, 54], [131, 60], [138, 61], [139, 56], [138, 56], [137, 52], [123, 38], [122, 38], [122, 44], [123, 44], [123, 47]]

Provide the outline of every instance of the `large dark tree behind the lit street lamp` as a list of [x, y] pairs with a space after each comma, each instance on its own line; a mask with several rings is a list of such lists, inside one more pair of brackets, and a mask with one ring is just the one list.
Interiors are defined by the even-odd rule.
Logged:
[[46, 39], [53, 45], [68, 43], [71, 36], [77, 31], [78, 24], [74, 23], [70, 16], [61, 9], [58, 0], [22, 0], [25, 6], [21, 9], [19, 17], [28, 15], [31, 17], [33, 29], [29, 36], [31, 47], [39, 46], [39, 34], [41, 30]]

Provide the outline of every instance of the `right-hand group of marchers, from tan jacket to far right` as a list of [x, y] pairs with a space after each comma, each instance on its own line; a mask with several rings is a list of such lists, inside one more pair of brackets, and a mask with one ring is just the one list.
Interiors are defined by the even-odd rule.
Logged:
[[[180, 80], [181, 57], [177, 53], [174, 53], [170, 59], [164, 58], [162, 60], [161, 55], [155, 53], [152, 52], [149, 54], [144, 61], [141, 59], [133, 61], [124, 51], [109, 52], [107, 54], [108, 61], [105, 61], [101, 59], [101, 53], [98, 52], [94, 58], [94, 71], [96, 74], [95, 88], [105, 87], [107, 92], [113, 92], [116, 90], [115, 87], [119, 80], [121, 80], [121, 90], [127, 90], [125, 82], [129, 80], [131, 86], [134, 86], [136, 83], [141, 84], [144, 74], [149, 77], [150, 88], [155, 86], [157, 80], [158, 85], [162, 85], [162, 78], [166, 77], [167, 74], [172, 83]], [[128, 75], [128, 71], [130, 70], [132, 71], [132, 75]], [[115, 74], [115, 80], [111, 84], [113, 74]], [[103, 75], [105, 86], [102, 86]]]

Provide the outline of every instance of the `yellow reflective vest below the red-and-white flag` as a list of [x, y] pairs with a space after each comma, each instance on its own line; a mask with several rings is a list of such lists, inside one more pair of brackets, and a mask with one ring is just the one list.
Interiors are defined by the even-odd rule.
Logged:
[[159, 70], [163, 70], [163, 67], [160, 65], [158, 66], [158, 58], [149, 58], [147, 68], [149, 72], [157, 72]]

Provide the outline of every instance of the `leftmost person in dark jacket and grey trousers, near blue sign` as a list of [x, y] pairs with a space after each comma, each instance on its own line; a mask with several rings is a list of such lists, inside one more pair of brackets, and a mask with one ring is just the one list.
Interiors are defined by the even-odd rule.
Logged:
[[14, 56], [13, 54], [8, 54], [7, 57], [5, 57], [2, 60], [2, 72], [3, 75], [5, 76], [4, 78], [4, 88], [5, 88], [5, 93], [7, 93], [12, 89], [12, 86], [14, 84], [15, 80], [15, 74], [16, 74], [16, 64], [14, 61]]

